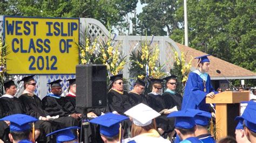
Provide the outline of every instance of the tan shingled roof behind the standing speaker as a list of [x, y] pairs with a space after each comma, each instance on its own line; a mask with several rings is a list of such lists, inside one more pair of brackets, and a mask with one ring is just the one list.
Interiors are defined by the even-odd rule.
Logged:
[[[180, 51], [183, 51], [186, 56], [186, 62], [189, 62], [191, 59], [191, 56], [193, 58], [201, 55], [206, 55], [206, 53], [198, 51], [196, 49], [193, 49], [191, 47], [187, 47], [185, 45], [181, 45], [177, 43], [178, 47], [180, 48]], [[191, 55], [191, 56], [190, 56]], [[208, 56], [208, 59], [211, 61], [210, 70], [208, 71], [208, 74], [211, 76], [212, 80], [224, 80], [225, 76], [229, 80], [233, 79], [255, 79], [256, 73], [253, 71], [247, 70], [245, 68], [241, 68], [239, 66], [236, 66], [230, 62], [221, 60], [219, 58], [216, 58], [214, 56]], [[196, 69], [198, 60], [194, 59], [192, 61], [192, 68], [191, 70]], [[216, 70], [220, 70], [221, 74], [218, 74]]]

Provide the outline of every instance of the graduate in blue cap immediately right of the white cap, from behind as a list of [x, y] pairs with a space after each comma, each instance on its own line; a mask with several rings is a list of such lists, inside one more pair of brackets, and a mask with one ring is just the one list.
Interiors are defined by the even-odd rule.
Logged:
[[176, 117], [175, 118], [175, 131], [179, 136], [180, 142], [202, 142], [198, 138], [194, 132], [196, 131], [196, 123], [194, 121], [194, 116], [197, 115], [198, 112], [196, 111], [176, 111], [170, 113], [167, 118]]

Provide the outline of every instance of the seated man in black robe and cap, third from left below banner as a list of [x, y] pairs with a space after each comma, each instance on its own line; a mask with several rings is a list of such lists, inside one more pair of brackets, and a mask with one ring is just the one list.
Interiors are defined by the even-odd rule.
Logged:
[[60, 128], [78, 126], [77, 119], [82, 115], [76, 113], [76, 109], [70, 105], [70, 102], [65, 103], [64, 97], [60, 97], [62, 94], [60, 81], [62, 80], [48, 83], [50, 84], [51, 92], [42, 99], [43, 108], [50, 116], [58, 116], [57, 120], [55, 119], [54, 121], [60, 125]]

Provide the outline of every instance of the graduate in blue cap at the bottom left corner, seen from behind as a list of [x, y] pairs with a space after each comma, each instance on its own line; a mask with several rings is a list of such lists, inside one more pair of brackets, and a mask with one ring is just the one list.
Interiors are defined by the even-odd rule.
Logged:
[[10, 121], [9, 138], [11, 142], [35, 142], [35, 137], [31, 133], [30, 123], [36, 122], [36, 118], [23, 114], [15, 114], [6, 116], [0, 120]]

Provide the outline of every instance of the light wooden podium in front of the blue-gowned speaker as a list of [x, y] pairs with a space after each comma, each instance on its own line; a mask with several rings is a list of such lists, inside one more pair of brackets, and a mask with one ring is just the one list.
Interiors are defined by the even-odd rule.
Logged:
[[224, 91], [216, 94], [212, 99], [206, 97], [206, 103], [215, 103], [216, 110], [216, 138], [231, 135], [235, 137], [235, 127], [238, 121], [235, 117], [240, 113], [240, 102], [250, 100], [250, 91]]

